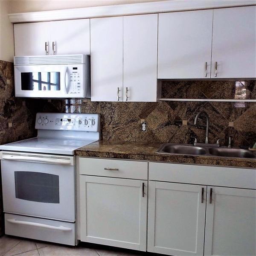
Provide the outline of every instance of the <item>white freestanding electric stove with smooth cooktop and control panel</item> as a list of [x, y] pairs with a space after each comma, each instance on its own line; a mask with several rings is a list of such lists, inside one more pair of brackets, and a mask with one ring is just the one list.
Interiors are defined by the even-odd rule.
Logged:
[[100, 116], [37, 113], [35, 128], [36, 138], [0, 145], [6, 234], [76, 245], [74, 151], [99, 140]]

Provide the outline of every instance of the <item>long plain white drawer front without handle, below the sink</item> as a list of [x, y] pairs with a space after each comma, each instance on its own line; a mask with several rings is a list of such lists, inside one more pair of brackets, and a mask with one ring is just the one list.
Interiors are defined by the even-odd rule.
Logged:
[[256, 169], [149, 163], [149, 180], [256, 189]]

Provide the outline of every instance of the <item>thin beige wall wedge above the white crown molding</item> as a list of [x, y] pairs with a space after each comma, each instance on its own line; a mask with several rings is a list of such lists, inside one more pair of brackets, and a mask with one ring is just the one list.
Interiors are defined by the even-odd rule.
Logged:
[[106, 6], [126, 3], [144, 3], [163, 0], [11, 0], [12, 13], [38, 12], [58, 9]]

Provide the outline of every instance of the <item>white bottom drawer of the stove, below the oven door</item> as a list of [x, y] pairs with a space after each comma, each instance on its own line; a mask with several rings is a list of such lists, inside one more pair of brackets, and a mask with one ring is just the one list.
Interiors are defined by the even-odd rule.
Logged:
[[11, 236], [76, 245], [76, 223], [6, 213], [5, 233]]

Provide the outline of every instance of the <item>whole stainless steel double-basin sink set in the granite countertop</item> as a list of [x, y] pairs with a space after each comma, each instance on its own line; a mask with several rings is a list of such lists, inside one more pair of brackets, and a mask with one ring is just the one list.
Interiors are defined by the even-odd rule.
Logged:
[[157, 153], [211, 157], [256, 158], [256, 154], [247, 149], [224, 148], [212, 145], [213, 144], [194, 146], [190, 144], [164, 143], [160, 148], [158, 148]]

